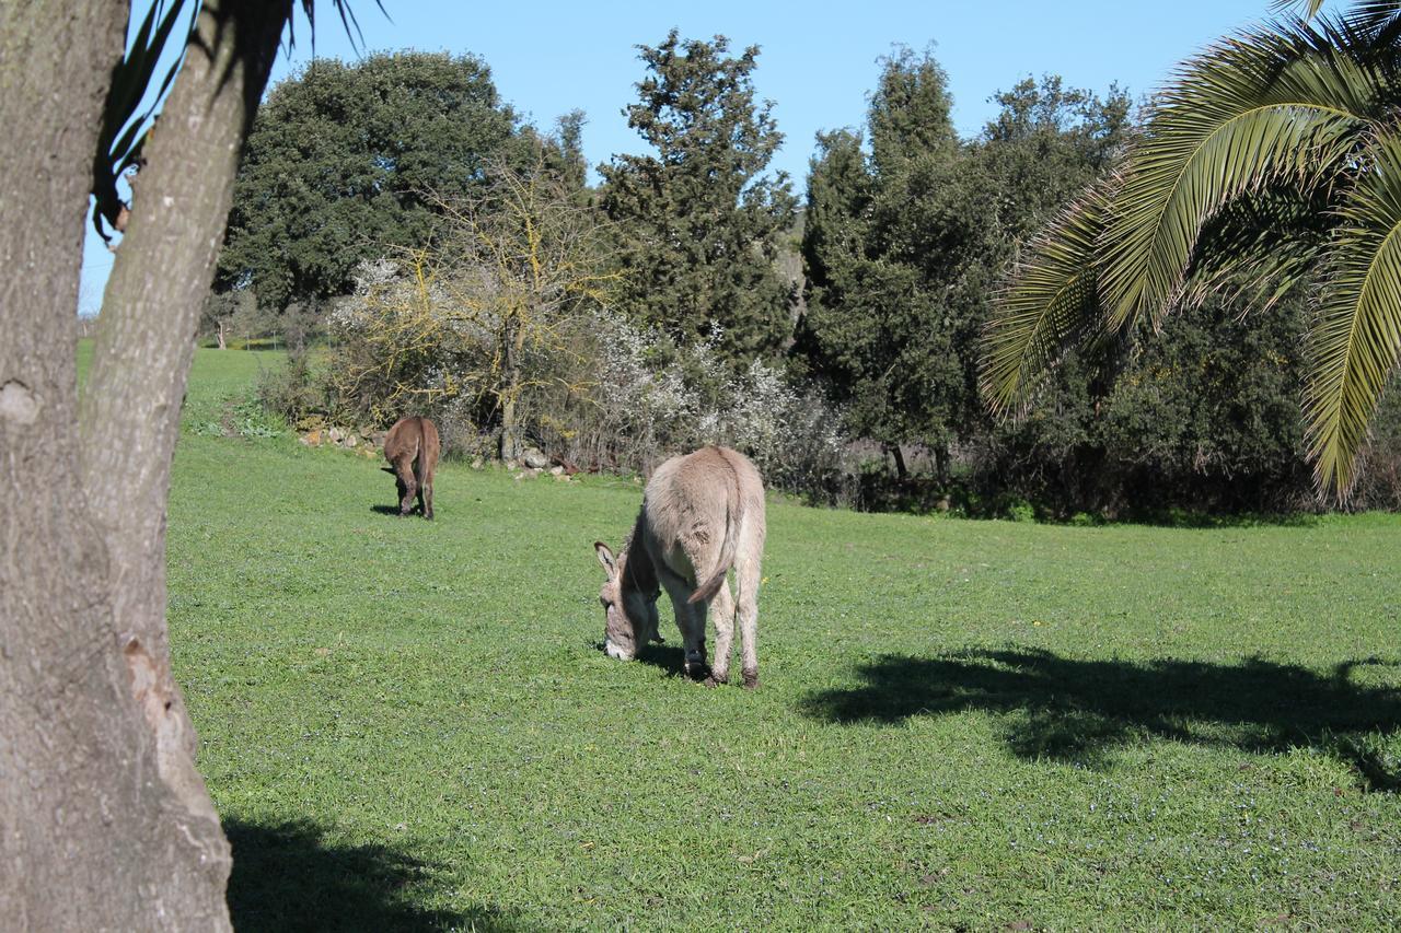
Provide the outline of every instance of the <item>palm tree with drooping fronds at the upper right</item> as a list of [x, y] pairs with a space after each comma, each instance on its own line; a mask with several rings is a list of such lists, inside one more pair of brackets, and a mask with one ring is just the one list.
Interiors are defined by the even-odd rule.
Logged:
[[1309, 283], [1307, 452], [1320, 492], [1346, 497], [1401, 357], [1401, 0], [1320, 6], [1180, 66], [1119, 170], [1027, 247], [984, 340], [996, 413], [1073, 345]]

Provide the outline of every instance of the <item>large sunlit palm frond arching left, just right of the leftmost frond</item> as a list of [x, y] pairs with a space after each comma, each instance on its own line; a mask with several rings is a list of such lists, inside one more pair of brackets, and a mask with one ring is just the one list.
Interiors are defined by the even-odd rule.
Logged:
[[1111, 329], [1160, 319], [1224, 205], [1281, 181], [1325, 184], [1376, 115], [1379, 81], [1360, 36], [1338, 22], [1279, 29], [1188, 62], [1154, 105], [1100, 240]]

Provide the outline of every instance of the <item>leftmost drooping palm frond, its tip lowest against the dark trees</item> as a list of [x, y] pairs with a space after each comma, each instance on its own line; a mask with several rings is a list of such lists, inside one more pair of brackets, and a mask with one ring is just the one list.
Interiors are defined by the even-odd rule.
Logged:
[[1094, 248], [1112, 185], [1091, 188], [1042, 230], [995, 297], [979, 371], [995, 413], [1026, 406], [1061, 353], [1098, 324]]

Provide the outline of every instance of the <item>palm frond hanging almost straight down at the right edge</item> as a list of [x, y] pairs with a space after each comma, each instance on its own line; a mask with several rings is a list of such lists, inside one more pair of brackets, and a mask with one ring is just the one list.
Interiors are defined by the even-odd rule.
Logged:
[[1366, 171], [1346, 192], [1330, 249], [1304, 396], [1314, 478], [1339, 500], [1401, 357], [1401, 139], [1381, 136], [1360, 158]]

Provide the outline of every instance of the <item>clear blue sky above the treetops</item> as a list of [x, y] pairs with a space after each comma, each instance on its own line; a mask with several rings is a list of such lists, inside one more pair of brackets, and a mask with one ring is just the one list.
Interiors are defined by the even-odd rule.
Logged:
[[[758, 45], [754, 84], [761, 98], [775, 102], [786, 134], [772, 167], [787, 171], [800, 192], [814, 133], [863, 123], [877, 59], [895, 43], [916, 50], [933, 43], [948, 73], [954, 122], [964, 136], [974, 136], [996, 112], [988, 98], [1023, 77], [1059, 74], [1072, 87], [1100, 92], [1117, 81], [1143, 95], [1184, 57], [1269, 13], [1269, 0], [385, 0], [387, 20], [373, 0], [352, 4], [366, 50], [476, 55], [490, 66], [502, 97], [542, 129], [583, 109], [584, 154], [594, 167], [615, 153], [643, 151], [621, 113], [643, 77], [635, 46], [658, 43], [671, 27], [684, 38], [726, 35], [734, 49]], [[318, 10], [317, 55], [354, 59], [331, 4], [321, 0]], [[291, 55], [277, 62], [273, 81], [311, 59], [304, 22], [297, 39]], [[98, 308], [109, 269], [111, 254], [90, 234], [81, 312]]]

